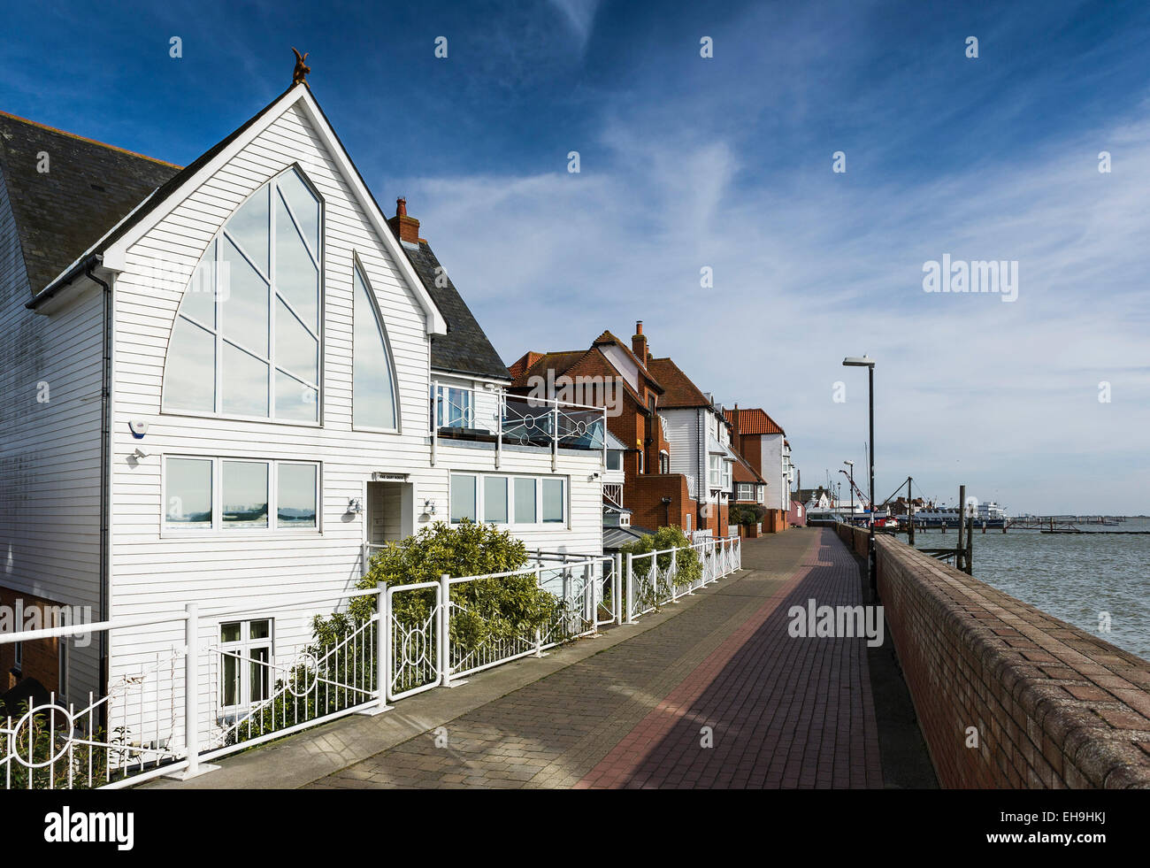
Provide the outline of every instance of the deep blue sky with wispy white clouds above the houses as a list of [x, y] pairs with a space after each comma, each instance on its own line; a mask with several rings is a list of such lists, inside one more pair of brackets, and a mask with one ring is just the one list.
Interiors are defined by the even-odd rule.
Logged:
[[[880, 497], [911, 475], [1150, 512], [1150, 6], [711, 6], [9, 5], [0, 108], [186, 163], [288, 85], [294, 45], [506, 361], [643, 320], [785, 428], [808, 486], [864, 460], [841, 361], [868, 353]], [[1017, 301], [923, 292], [944, 254], [1018, 261]]]

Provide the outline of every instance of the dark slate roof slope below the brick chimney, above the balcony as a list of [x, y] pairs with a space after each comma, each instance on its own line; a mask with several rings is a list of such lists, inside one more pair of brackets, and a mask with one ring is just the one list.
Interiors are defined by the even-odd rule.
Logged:
[[[431, 300], [443, 314], [443, 318], [447, 321], [446, 335], [431, 336], [431, 367], [493, 379], [511, 379], [507, 366], [491, 346], [486, 333], [480, 328], [480, 323], [471, 315], [470, 308], [463, 302], [455, 284], [451, 282], [451, 276], [439, 264], [428, 243], [420, 240], [419, 249], [406, 243], [400, 246], [411, 260], [415, 274], [427, 287]], [[445, 278], [440, 279], [440, 283], [445, 283], [446, 286], [436, 285], [437, 275]]]

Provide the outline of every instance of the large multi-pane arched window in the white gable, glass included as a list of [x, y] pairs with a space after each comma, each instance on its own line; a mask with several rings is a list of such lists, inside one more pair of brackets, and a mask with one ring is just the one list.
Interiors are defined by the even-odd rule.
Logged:
[[320, 226], [294, 168], [228, 218], [179, 304], [164, 409], [319, 422]]

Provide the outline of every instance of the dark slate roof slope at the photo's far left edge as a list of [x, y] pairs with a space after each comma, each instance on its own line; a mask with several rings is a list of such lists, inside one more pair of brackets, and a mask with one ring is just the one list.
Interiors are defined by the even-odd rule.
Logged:
[[[48, 171], [38, 171], [39, 154]], [[8, 186], [32, 294], [52, 282], [179, 167], [0, 112]]]

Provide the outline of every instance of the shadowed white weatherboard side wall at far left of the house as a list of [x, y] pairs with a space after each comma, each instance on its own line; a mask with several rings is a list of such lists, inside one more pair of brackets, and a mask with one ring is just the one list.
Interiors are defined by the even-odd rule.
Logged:
[[[0, 179], [0, 585], [99, 616], [102, 290], [52, 316], [32, 298]], [[47, 400], [38, 401], [47, 389]], [[98, 648], [71, 646], [69, 693], [95, 684]], [[54, 689], [54, 684], [46, 685]]]

